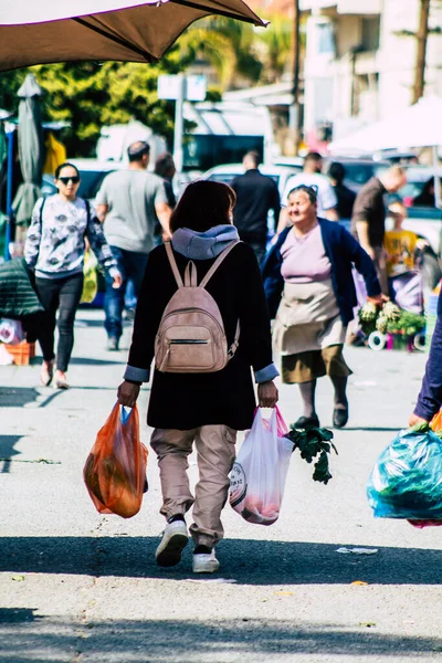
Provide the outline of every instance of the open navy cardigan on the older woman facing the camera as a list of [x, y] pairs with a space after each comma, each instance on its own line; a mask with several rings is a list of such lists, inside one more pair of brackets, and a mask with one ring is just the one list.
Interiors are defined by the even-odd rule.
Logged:
[[[340, 318], [345, 326], [352, 320], [352, 309], [357, 305], [355, 283], [351, 267], [364, 276], [368, 296], [380, 294], [380, 285], [376, 275], [373, 263], [358, 242], [336, 221], [318, 219], [323, 235], [324, 249], [332, 263], [332, 283]], [[264, 290], [271, 317], [276, 316], [281, 295], [284, 288], [284, 278], [281, 274], [283, 259], [281, 248], [284, 244], [291, 228], [286, 228], [277, 238], [277, 242], [271, 248], [265, 256], [262, 274]]]

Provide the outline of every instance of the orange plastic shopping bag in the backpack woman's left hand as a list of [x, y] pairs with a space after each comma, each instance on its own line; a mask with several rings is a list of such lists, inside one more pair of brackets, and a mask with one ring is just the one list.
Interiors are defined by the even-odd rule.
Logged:
[[135, 406], [127, 414], [116, 403], [87, 456], [83, 477], [101, 514], [135, 516], [141, 507], [148, 451], [139, 441]]

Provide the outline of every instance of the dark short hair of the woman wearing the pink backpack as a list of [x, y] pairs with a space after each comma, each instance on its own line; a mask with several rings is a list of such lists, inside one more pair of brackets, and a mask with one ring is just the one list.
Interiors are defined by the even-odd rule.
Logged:
[[197, 180], [188, 185], [170, 217], [170, 230], [189, 228], [204, 232], [214, 225], [229, 223], [229, 212], [236, 194], [228, 185]]

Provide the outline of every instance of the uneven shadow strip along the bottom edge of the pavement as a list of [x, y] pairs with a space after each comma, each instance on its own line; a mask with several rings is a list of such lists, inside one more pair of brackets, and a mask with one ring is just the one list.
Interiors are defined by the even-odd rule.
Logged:
[[[412, 638], [337, 624], [287, 620], [109, 620], [80, 622], [39, 619], [2, 627], [0, 651], [8, 663], [90, 660], [157, 663], [192, 661], [282, 661], [287, 654], [396, 656], [407, 661], [420, 653], [441, 651], [438, 638]], [[87, 635], [86, 635], [87, 634]], [[1, 646], [1, 641], [4, 645]], [[52, 657], [56, 653], [56, 659]], [[52, 654], [52, 655], [51, 655]], [[67, 657], [69, 655], [74, 657]], [[244, 659], [245, 656], [245, 659]], [[259, 656], [259, 659], [256, 659]], [[276, 656], [276, 657], [274, 657]], [[281, 659], [280, 659], [281, 656]], [[413, 659], [417, 660], [415, 657]]]

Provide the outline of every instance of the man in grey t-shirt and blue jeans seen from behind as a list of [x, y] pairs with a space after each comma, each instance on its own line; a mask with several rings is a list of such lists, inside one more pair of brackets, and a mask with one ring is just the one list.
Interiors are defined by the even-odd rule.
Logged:
[[123, 309], [128, 280], [138, 298], [147, 257], [154, 248], [157, 219], [164, 232], [169, 232], [170, 208], [165, 185], [157, 175], [147, 171], [150, 148], [147, 143], [133, 143], [128, 150], [129, 167], [110, 172], [97, 193], [97, 213], [123, 276], [114, 288], [106, 280], [104, 302], [107, 349], [118, 350], [123, 334]]

